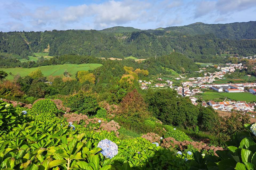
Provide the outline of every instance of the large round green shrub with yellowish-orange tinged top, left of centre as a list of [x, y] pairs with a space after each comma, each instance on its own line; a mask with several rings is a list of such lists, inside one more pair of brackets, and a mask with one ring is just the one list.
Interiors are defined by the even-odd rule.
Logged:
[[98, 95], [91, 91], [85, 92], [80, 90], [78, 93], [67, 96], [64, 104], [73, 112], [93, 114], [99, 107]]

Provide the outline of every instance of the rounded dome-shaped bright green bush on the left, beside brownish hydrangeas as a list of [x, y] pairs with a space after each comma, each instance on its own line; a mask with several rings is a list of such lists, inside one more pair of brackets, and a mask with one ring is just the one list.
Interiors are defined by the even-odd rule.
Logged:
[[58, 108], [53, 101], [44, 99], [37, 101], [37, 103], [33, 105], [32, 112], [39, 116], [54, 117], [55, 114], [58, 113]]

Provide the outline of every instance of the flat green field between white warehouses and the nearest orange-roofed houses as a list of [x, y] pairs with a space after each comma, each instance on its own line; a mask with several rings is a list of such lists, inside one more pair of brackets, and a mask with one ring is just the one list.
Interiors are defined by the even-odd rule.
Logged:
[[219, 100], [220, 98], [225, 98], [225, 97], [235, 101], [246, 101], [246, 102], [256, 101], [256, 96], [249, 92], [243, 92], [243, 93], [205, 92], [201, 96], [202, 96], [202, 99], [205, 101], [209, 101], [209, 100], [216, 101], [216, 100]]

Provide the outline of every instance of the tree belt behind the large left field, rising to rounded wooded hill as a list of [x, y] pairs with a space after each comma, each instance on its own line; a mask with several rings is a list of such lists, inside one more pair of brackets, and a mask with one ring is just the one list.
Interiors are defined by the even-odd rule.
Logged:
[[[78, 55], [63, 55], [57, 56], [50, 59], [45, 59], [43, 57], [39, 58], [37, 62], [28, 61], [20, 62], [19, 60], [11, 57], [5, 57], [0, 54], [0, 66], [1, 67], [40, 67], [46, 65], [58, 65], [58, 64], [82, 64], [82, 63], [98, 63], [103, 65], [108, 65], [111, 63], [108, 59], [101, 59], [98, 57], [91, 56], [78, 56]], [[135, 69], [140, 68], [148, 70], [150, 74], [165, 73], [165, 68], [173, 69], [178, 73], [192, 72], [198, 70], [198, 65], [196, 65], [191, 59], [180, 54], [171, 53], [170, 55], [161, 57], [151, 57], [143, 62], [135, 62], [134, 60], [119, 60], [114, 61], [121, 66], [129, 66]], [[101, 68], [101, 67], [100, 67]], [[102, 68], [101, 68], [102, 69]], [[114, 71], [113, 69], [110, 71]]]

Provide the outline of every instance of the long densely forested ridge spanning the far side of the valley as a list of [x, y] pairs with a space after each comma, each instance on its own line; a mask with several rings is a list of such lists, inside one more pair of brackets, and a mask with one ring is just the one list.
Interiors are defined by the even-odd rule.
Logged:
[[256, 40], [219, 39], [214, 34], [188, 35], [172, 31], [111, 33], [96, 30], [0, 33], [0, 52], [26, 56], [49, 49], [50, 56], [88, 55], [148, 58], [180, 52], [195, 62], [223, 62], [222, 53], [256, 54]]

